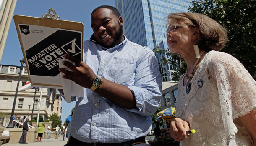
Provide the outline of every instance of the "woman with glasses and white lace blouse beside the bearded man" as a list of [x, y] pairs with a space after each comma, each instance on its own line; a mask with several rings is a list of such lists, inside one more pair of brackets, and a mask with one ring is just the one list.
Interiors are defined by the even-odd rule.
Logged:
[[[218, 52], [225, 28], [197, 13], [167, 18], [167, 45], [187, 64], [170, 134], [180, 146], [256, 146], [256, 82], [234, 57]], [[196, 133], [186, 131], [195, 129]]]

